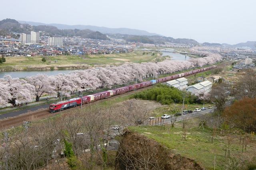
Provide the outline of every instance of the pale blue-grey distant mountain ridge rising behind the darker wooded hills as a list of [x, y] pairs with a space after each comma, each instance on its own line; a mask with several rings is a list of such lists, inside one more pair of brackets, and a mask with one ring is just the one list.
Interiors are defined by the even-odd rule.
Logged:
[[49, 26], [56, 26], [58, 29], [78, 29], [78, 30], [93, 30], [101, 32], [102, 34], [130, 34], [130, 35], [143, 35], [143, 36], [161, 36], [159, 34], [150, 33], [144, 30], [136, 30], [130, 28], [107, 28], [107, 27], [99, 27], [99, 26], [90, 26], [90, 25], [66, 25], [66, 24], [44, 24], [40, 22], [28, 22], [28, 21], [18, 21], [23, 24], [30, 24], [32, 26], [39, 26], [39, 25], [49, 25]]

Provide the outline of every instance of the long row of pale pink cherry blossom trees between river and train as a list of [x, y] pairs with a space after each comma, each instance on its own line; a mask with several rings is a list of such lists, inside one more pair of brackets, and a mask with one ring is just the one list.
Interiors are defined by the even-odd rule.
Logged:
[[[0, 79], [0, 104], [15, 104], [16, 100], [28, 101], [32, 97], [39, 101], [43, 94], [58, 94], [74, 89], [112, 88], [117, 84], [126, 84], [133, 80], [142, 81], [150, 75], [157, 78], [159, 74], [168, 74], [189, 68], [214, 64], [221, 60], [219, 54], [208, 54], [204, 58], [192, 58], [189, 61], [166, 59], [163, 62], [128, 63], [121, 66], [95, 67], [69, 74], [47, 76], [38, 74], [24, 79], [12, 78], [10, 75]], [[68, 93], [66, 94], [67, 97]]]

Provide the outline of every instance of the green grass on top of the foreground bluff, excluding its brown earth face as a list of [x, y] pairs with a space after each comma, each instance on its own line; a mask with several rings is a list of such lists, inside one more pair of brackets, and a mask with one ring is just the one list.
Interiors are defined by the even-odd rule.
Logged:
[[[251, 159], [255, 158], [255, 136], [246, 135], [241, 130], [224, 130], [223, 135], [217, 130], [213, 135], [211, 128], [198, 127], [197, 124], [197, 126], [182, 129], [181, 125], [177, 124], [174, 128], [165, 125], [165, 129], [161, 126], [129, 128], [153, 138], [182, 156], [199, 162], [208, 170], [214, 170], [214, 157], [216, 157], [216, 170], [232, 169], [232, 166], [234, 169], [238, 164], [252, 162]], [[186, 134], [186, 140], [182, 139], [183, 134]], [[213, 136], [213, 142], [211, 136]], [[246, 152], [243, 153], [240, 137], [247, 137]], [[225, 157], [225, 149], [230, 149], [230, 157], [228, 153]]]

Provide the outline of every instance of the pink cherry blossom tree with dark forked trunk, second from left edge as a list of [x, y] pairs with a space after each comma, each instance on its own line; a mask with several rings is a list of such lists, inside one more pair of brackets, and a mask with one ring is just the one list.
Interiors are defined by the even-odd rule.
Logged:
[[46, 74], [37, 74], [25, 80], [33, 86], [32, 93], [36, 96], [36, 102], [39, 101], [42, 94], [51, 94], [54, 92], [54, 87], [50, 83], [51, 79]]

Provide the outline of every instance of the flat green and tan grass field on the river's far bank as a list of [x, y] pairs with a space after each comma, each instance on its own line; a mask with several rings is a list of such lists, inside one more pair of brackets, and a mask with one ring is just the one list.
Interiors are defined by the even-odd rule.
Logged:
[[128, 62], [148, 62], [154, 60], [156, 56], [157, 55], [152, 56], [150, 54], [143, 55], [142, 51], [86, 56], [44, 56], [46, 62], [42, 62], [42, 56], [5, 57], [6, 62], [0, 64], [0, 71], [90, 68], [92, 66], [119, 65]]

